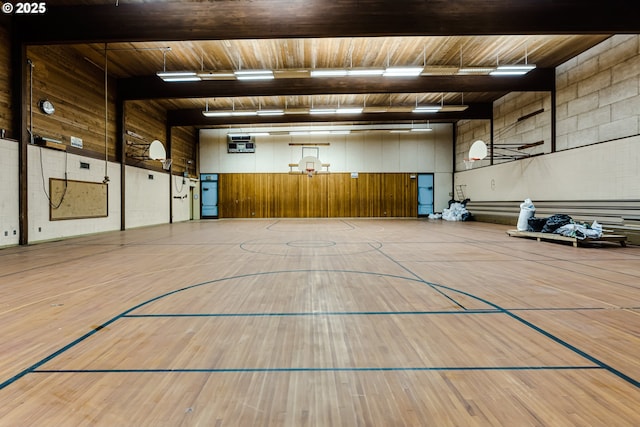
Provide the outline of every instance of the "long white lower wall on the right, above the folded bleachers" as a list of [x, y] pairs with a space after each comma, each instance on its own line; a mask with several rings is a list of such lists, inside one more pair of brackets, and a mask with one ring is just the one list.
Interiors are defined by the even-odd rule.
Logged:
[[455, 175], [472, 201], [625, 200], [640, 195], [640, 136]]

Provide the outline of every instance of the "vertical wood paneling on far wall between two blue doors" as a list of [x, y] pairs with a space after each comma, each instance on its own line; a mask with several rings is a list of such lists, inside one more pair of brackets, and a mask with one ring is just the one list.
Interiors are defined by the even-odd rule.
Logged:
[[220, 218], [415, 217], [416, 174], [219, 176]]

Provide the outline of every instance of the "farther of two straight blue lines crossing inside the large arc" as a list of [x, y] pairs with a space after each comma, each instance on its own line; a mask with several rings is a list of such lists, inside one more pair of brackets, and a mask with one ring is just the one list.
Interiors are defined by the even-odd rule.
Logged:
[[499, 310], [457, 310], [457, 311], [314, 311], [291, 313], [155, 313], [127, 314], [123, 318], [138, 317], [287, 317], [287, 316], [384, 316], [384, 315], [441, 315], [441, 314], [503, 314]]

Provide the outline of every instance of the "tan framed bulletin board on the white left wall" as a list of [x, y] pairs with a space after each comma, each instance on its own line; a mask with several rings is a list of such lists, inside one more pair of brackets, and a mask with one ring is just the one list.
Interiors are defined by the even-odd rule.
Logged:
[[102, 218], [109, 215], [108, 185], [49, 178], [49, 219]]

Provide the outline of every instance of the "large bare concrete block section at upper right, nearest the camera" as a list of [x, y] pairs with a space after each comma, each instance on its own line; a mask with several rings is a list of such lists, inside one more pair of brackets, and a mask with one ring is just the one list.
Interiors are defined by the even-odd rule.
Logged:
[[616, 35], [556, 69], [557, 150], [640, 133], [640, 36]]

